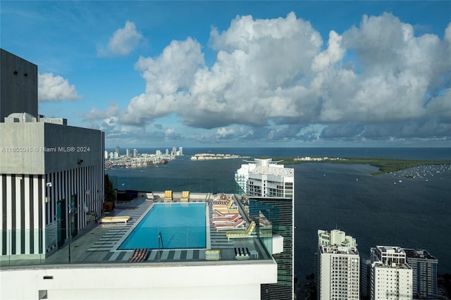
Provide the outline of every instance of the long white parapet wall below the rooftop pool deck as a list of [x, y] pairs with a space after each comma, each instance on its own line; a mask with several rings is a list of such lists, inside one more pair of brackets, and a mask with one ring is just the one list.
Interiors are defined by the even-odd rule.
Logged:
[[[1, 299], [260, 299], [277, 265], [98, 265], [0, 271]], [[47, 278], [47, 279], [44, 279]]]

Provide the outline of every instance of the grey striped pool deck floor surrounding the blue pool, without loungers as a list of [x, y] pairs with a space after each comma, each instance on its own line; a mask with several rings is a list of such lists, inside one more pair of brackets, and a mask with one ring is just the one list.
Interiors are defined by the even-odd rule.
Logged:
[[[236, 199], [235, 199], [236, 200]], [[180, 202], [180, 198], [174, 197], [172, 202]], [[211, 217], [213, 215], [212, 199], [205, 199], [205, 195], [195, 198], [190, 196], [190, 202], [208, 202], [210, 226], [207, 226], [207, 239], [209, 231], [209, 242], [207, 242], [207, 249], [219, 249], [221, 251], [221, 261], [234, 261], [235, 248], [244, 247], [252, 249], [252, 260], [271, 259], [262, 249], [262, 245], [258, 239], [230, 239], [226, 237], [226, 232], [216, 231]], [[237, 203], [239, 201], [235, 201]], [[154, 203], [165, 203], [163, 197], [149, 201], [145, 196], [141, 196], [128, 201], [127, 203], [116, 204], [116, 208], [104, 216], [130, 216], [127, 223], [94, 223], [87, 225], [87, 227], [78, 231], [78, 235], [73, 237], [70, 241], [66, 241], [60, 249], [54, 254], [51, 254], [44, 261], [36, 260], [16, 260], [11, 262], [2, 262], [1, 265], [58, 265], [67, 263], [128, 263], [132, 250], [116, 250], [118, 242], [130, 232], [132, 227], [137, 223], [142, 215]], [[167, 203], [167, 202], [166, 202]], [[249, 224], [249, 217], [245, 213], [245, 209], [241, 204], [237, 205], [242, 215], [242, 218]], [[259, 253], [259, 254], [257, 254]], [[257, 255], [256, 255], [257, 254]], [[206, 261], [205, 249], [149, 249], [149, 252], [144, 258], [144, 262], [181, 262], [181, 261]]]

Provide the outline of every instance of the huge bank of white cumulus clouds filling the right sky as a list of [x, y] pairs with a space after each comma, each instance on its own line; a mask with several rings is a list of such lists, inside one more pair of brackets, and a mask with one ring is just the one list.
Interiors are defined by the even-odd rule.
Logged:
[[[268, 137], [257, 128], [277, 124], [288, 127], [271, 137], [309, 139], [319, 132], [302, 134], [308, 124], [321, 125], [323, 137], [344, 131], [364, 137], [372, 125], [402, 122], [450, 128], [451, 24], [440, 40], [416, 35], [391, 13], [364, 15], [345, 32], [330, 30], [325, 43], [295, 13], [273, 19], [245, 15], [222, 32], [213, 28], [209, 45], [216, 51], [211, 66], [191, 38], [171, 42], [159, 56], [141, 57], [135, 68], [146, 89], [130, 100], [121, 122], [142, 125], [175, 114], [185, 125], [220, 128], [219, 137], [236, 137], [234, 125]], [[425, 128], [426, 135], [433, 125], [409, 128]], [[391, 127], [400, 134], [406, 128]]]

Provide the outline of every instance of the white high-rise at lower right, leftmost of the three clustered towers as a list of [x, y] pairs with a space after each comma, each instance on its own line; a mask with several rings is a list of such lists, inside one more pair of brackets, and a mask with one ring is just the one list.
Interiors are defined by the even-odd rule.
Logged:
[[318, 230], [318, 299], [359, 299], [360, 256], [356, 240], [341, 230]]

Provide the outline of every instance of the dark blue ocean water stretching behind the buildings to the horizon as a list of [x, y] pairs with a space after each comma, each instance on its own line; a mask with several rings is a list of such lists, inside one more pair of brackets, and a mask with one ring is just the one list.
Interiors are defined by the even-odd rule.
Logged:
[[[121, 149], [121, 151], [125, 149]], [[154, 153], [139, 149], [140, 153]], [[162, 149], [163, 150], [163, 149]], [[251, 157], [380, 157], [451, 161], [444, 148], [226, 148], [183, 149]], [[109, 170], [118, 189], [234, 192], [242, 159], [190, 161], [178, 158], [156, 167]], [[343, 230], [357, 239], [361, 254], [376, 245], [427, 249], [438, 272], [451, 273], [451, 168], [422, 166], [371, 176], [371, 165], [303, 163], [295, 168], [295, 275], [299, 285], [314, 272], [319, 229]], [[406, 177], [406, 176], [409, 177]]]

